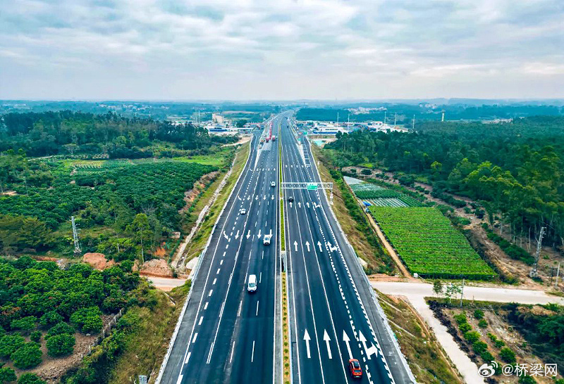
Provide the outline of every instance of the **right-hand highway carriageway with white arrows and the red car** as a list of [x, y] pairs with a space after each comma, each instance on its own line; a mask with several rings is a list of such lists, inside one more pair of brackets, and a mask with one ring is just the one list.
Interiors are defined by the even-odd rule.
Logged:
[[[284, 183], [321, 181], [286, 120], [281, 143]], [[323, 191], [283, 192], [293, 383], [353, 383], [351, 358], [367, 383], [410, 383]]]

